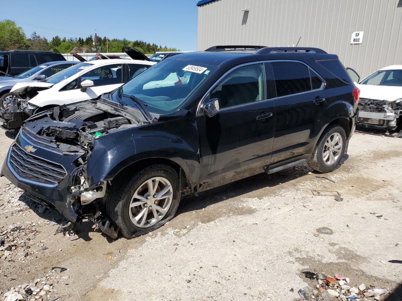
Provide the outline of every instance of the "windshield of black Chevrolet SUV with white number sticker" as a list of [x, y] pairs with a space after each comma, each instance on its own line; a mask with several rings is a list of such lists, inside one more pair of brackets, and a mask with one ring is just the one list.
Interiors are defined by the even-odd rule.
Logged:
[[[146, 103], [148, 110], [174, 112], [217, 67], [164, 60], [137, 75], [119, 91]], [[132, 100], [129, 104], [132, 104]]]

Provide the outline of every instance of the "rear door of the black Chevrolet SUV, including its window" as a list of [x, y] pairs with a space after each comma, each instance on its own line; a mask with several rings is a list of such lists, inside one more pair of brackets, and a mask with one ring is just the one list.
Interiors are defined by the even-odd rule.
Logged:
[[311, 153], [314, 128], [325, 108], [324, 80], [298, 61], [272, 62], [275, 98], [275, 139], [271, 164]]

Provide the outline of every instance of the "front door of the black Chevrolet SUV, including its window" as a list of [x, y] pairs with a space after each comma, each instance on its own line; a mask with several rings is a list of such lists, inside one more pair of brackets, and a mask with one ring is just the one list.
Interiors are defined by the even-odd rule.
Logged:
[[[271, 68], [271, 66], [269, 66]], [[275, 107], [267, 91], [263, 63], [239, 67], [211, 90], [219, 113], [197, 115], [200, 141], [200, 191], [263, 172], [271, 159]]]

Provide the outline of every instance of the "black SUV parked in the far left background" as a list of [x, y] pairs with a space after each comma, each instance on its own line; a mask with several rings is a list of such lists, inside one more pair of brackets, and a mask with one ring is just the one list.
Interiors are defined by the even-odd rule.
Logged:
[[18, 75], [39, 64], [66, 61], [63, 55], [53, 51], [10, 50], [0, 51], [0, 75]]

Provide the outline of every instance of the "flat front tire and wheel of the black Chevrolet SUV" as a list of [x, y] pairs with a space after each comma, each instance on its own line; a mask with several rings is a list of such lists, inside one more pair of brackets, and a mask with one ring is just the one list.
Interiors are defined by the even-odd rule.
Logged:
[[168, 165], [152, 165], [118, 176], [112, 183], [106, 213], [126, 238], [146, 234], [174, 217], [180, 202], [176, 171]]

